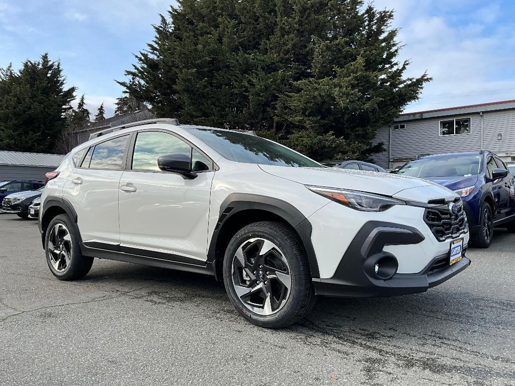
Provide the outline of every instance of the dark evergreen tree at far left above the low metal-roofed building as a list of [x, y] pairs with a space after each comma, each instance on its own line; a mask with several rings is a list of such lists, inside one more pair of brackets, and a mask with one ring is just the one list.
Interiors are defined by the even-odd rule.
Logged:
[[0, 69], [0, 149], [53, 152], [65, 129], [75, 87], [65, 87], [61, 63], [43, 54], [19, 71]]

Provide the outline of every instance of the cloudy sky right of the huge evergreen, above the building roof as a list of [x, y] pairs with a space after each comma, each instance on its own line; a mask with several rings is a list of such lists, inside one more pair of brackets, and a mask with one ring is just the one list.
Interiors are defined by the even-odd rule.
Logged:
[[406, 112], [515, 99], [515, 23], [497, 23], [503, 9], [495, 2], [479, 10], [460, 3], [375, 1], [396, 9], [400, 59], [411, 60], [406, 75], [433, 77]]

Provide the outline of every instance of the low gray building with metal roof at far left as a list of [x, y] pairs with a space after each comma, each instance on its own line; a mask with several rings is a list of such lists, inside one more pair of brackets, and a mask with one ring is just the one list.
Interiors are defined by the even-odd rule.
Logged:
[[0, 151], [0, 181], [43, 181], [45, 173], [55, 170], [64, 155]]

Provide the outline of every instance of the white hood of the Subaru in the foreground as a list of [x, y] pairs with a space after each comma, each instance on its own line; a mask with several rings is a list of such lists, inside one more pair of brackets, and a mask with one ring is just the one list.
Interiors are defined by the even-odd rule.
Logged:
[[397, 174], [338, 168], [304, 168], [271, 165], [260, 165], [260, 168], [273, 176], [303, 185], [352, 189], [424, 202], [431, 199], [453, 199], [456, 197], [454, 192], [431, 181], [398, 176]]

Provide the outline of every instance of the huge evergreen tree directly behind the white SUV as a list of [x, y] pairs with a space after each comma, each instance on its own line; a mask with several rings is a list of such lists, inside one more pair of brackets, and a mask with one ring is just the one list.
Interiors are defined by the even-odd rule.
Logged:
[[430, 80], [404, 77], [392, 19], [362, 0], [182, 0], [119, 84], [159, 116], [366, 159]]

